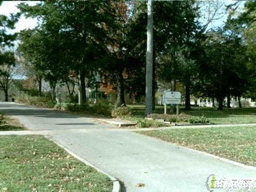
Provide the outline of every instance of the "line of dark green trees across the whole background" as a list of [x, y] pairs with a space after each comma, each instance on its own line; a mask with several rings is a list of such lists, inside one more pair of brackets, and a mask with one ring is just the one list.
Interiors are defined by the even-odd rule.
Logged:
[[[256, 2], [246, 2], [243, 12], [238, 12], [239, 2], [227, 6], [228, 18], [219, 28], [211, 28], [211, 21], [218, 19], [220, 2], [153, 1], [151, 7], [153, 75], [148, 81], [153, 110], [156, 82], [172, 90], [177, 82], [182, 84], [187, 110], [191, 95], [217, 100], [218, 109], [225, 98], [227, 107], [231, 97], [256, 99]], [[21, 3], [18, 8], [17, 15], [1, 16], [1, 26], [13, 28], [22, 14], [37, 19], [38, 25], [14, 35], [0, 31], [0, 63], [17, 65], [14, 53], [3, 47], [18, 38], [18, 65], [27, 77], [36, 79], [39, 95], [43, 79], [50, 84], [53, 100], [57, 83], [67, 85], [70, 97], [77, 84], [79, 104], [84, 105], [85, 87], [95, 87], [97, 76], [100, 86], [117, 93], [118, 106], [126, 105], [125, 93], [145, 95], [146, 1], [45, 1], [34, 6]], [[4, 74], [1, 69], [3, 90]]]

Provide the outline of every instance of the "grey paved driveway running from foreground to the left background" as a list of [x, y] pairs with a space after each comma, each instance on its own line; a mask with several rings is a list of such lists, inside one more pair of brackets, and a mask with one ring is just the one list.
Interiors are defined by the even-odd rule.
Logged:
[[[90, 118], [14, 103], [0, 103], [1, 112], [18, 118], [30, 130], [47, 130], [53, 140], [123, 181], [126, 191], [207, 191], [205, 181], [210, 174], [215, 179], [256, 179], [256, 170], [117, 131]], [[145, 186], [135, 187], [138, 183]]]

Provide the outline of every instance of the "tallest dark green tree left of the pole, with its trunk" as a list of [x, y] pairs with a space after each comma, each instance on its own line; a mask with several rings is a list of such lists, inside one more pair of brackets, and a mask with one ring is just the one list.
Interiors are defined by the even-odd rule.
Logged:
[[[44, 36], [50, 37], [48, 41], [59, 41], [57, 44], [61, 57], [52, 59], [61, 64], [55, 66], [65, 66], [67, 71], [76, 72], [79, 103], [83, 105], [86, 102], [85, 78], [90, 77], [91, 71], [97, 66], [96, 61], [107, 49], [107, 28], [111, 23], [107, 14], [109, 1], [46, 1], [36, 6], [23, 3], [19, 8], [27, 17], [41, 18], [38, 28], [48, 34]], [[49, 49], [52, 50], [50, 45]]]

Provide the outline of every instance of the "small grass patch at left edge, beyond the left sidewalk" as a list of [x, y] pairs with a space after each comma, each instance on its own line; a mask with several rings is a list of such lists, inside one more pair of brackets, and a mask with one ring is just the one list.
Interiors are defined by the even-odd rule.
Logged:
[[20, 124], [17, 119], [11, 118], [9, 116], [1, 116], [0, 131], [22, 131], [26, 130], [22, 124]]

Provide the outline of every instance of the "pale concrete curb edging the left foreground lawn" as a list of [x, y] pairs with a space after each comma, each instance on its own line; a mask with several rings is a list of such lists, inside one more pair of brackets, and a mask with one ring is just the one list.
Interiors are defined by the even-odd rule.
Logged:
[[97, 170], [100, 173], [103, 173], [105, 175], [107, 175], [109, 177], [109, 179], [113, 182], [113, 189], [112, 192], [121, 192], [121, 185], [120, 182], [118, 181], [118, 179], [116, 179], [115, 177], [111, 176], [110, 174], [100, 170], [98, 167], [94, 166], [93, 164], [87, 162], [85, 159], [83, 159], [82, 157], [76, 155], [75, 153], [73, 153], [71, 150], [69, 150], [68, 148], [66, 148], [65, 146], [62, 146], [60, 143], [57, 143], [56, 141], [54, 141], [51, 137], [49, 137], [48, 135], [44, 135], [44, 137], [46, 137], [47, 139], [51, 140], [52, 142], [56, 143], [59, 147], [61, 147], [62, 149], [66, 150], [67, 153], [69, 153], [70, 155], [72, 155], [73, 157], [77, 158], [79, 161], [83, 162], [84, 164], [93, 167], [95, 170]]

